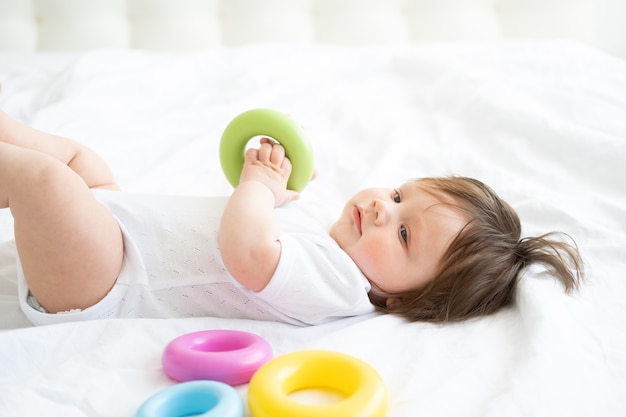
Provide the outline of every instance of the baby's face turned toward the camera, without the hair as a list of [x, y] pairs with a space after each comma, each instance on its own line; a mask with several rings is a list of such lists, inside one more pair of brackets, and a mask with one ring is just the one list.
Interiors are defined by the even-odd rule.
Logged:
[[372, 284], [387, 296], [422, 287], [467, 223], [420, 182], [399, 189], [369, 188], [346, 204], [330, 235]]

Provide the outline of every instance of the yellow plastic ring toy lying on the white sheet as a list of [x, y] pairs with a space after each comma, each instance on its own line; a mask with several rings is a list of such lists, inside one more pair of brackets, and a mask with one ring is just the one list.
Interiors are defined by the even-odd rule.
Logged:
[[[331, 404], [305, 404], [289, 395], [327, 389], [344, 398]], [[387, 389], [380, 375], [352, 356], [305, 350], [268, 362], [252, 377], [248, 405], [253, 417], [383, 417]]]

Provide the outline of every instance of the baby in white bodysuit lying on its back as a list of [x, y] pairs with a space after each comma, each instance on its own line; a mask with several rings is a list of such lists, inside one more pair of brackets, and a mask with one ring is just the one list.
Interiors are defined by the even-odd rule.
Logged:
[[515, 212], [477, 180], [366, 189], [328, 224], [294, 201], [290, 172], [283, 147], [263, 139], [229, 198], [122, 193], [90, 149], [0, 112], [0, 207], [15, 220], [22, 310], [34, 324], [310, 325], [374, 310], [449, 322], [507, 305], [534, 262], [566, 291], [582, 279], [573, 242], [522, 238]]

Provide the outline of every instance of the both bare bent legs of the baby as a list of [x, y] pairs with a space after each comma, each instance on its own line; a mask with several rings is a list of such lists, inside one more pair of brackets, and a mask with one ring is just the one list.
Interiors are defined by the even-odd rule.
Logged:
[[89, 188], [115, 183], [86, 148], [4, 116], [0, 207], [9, 207], [15, 219], [28, 286], [49, 312], [89, 307], [111, 289], [123, 258], [119, 226]]

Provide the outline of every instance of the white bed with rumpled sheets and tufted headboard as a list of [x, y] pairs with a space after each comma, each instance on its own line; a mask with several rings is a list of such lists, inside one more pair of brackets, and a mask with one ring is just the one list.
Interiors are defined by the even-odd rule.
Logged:
[[[85, 3], [0, 4], [18, 22], [0, 18], [0, 107], [91, 146], [125, 190], [227, 195], [232, 187], [217, 151], [223, 129], [245, 110], [273, 108], [298, 120], [313, 141], [319, 176], [303, 199], [340, 207], [368, 186], [473, 176], [517, 209], [524, 234], [573, 236], [587, 281], [568, 296], [541, 267], [531, 267], [513, 305], [458, 324], [372, 313], [312, 327], [212, 317], [32, 327], [18, 307], [12, 220], [2, 210], [0, 415], [132, 416], [175, 383], [162, 370], [164, 346], [207, 329], [261, 335], [275, 356], [327, 349], [362, 359], [386, 383], [388, 417], [626, 415], [623, 39], [605, 34], [610, 41], [600, 42], [591, 35], [598, 27], [571, 24], [582, 28], [573, 31], [565, 19], [556, 28], [563, 36], [547, 33], [556, 30], [548, 23], [538, 25], [544, 32], [537, 36], [521, 36], [524, 16], [534, 10], [514, 1], [466, 2], [474, 8], [448, 15], [454, 8], [432, 4], [454, 2], [423, 10], [418, 6], [429, 2], [386, 2], [390, 9], [377, 14], [375, 2], [357, 8], [347, 1], [275, 1], [291, 23], [273, 31], [261, 23], [275, 14], [245, 1], [220, 14], [220, 2], [177, 3], [201, 8], [197, 14], [171, 3], [167, 9], [166, 1]], [[314, 26], [298, 14], [313, 3], [343, 17], [359, 10], [353, 15], [363, 19], [344, 20], [351, 30], [341, 31], [331, 28], [337, 16], [318, 10]], [[510, 10], [520, 3], [526, 14]], [[564, 16], [548, 7], [563, 2], [545, 3], [545, 19]], [[607, 2], [567, 3], [576, 6], [567, 17], [588, 22], [596, 3]], [[60, 13], [55, 7], [62, 4]], [[150, 7], [144, 20], [116, 20]], [[248, 14], [236, 21], [242, 10]], [[412, 20], [403, 22], [412, 24], [396, 25], [400, 10], [410, 12]], [[98, 17], [89, 27], [109, 32], [68, 35], [86, 31], [79, 23], [89, 12]], [[39, 26], [28, 20], [34, 14]], [[170, 26], [164, 16], [173, 18]], [[181, 24], [191, 17], [197, 27]], [[422, 32], [414, 26], [420, 18], [431, 24]], [[79, 23], [63, 26], [63, 19]], [[218, 20], [226, 22], [221, 31], [204, 24]], [[139, 36], [159, 22], [180, 28], [177, 37]], [[245, 22], [258, 25], [238, 32]], [[364, 30], [374, 23], [378, 37]], [[454, 28], [462, 39], [447, 36]], [[19, 36], [7, 40], [9, 33]], [[247, 388], [236, 387], [244, 399]]]

